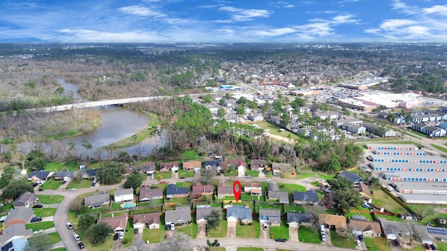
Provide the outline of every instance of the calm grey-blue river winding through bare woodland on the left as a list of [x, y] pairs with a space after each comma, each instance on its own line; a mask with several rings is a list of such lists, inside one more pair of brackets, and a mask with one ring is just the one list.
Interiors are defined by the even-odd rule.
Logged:
[[[73, 93], [72, 95], [75, 100], [82, 100], [75, 84], [67, 83], [64, 79], [58, 79], [58, 82], [66, 90], [65, 93], [69, 94], [71, 92]], [[68, 144], [68, 142], [73, 140], [76, 144], [76, 149], [81, 151], [82, 140], [87, 139], [91, 146], [93, 146], [93, 151], [91, 151], [93, 153], [95, 149], [99, 149], [102, 146], [107, 146], [108, 144], [118, 142], [119, 140], [126, 139], [126, 137], [134, 135], [147, 127], [150, 122], [149, 118], [145, 116], [145, 114], [141, 114], [140, 112], [135, 112], [130, 109], [124, 109], [122, 107], [108, 107], [107, 109], [100, 109], [100, 111], [101, 126], [98, 126], [98, 128], [92, 130], [91, 132], [87, 132], [82, 135], [61, 139], [61, 142], [63, 144]], [[158, 141], [159, 137], [157, 137], [157, 142]], [[142, 148], [145, 149], [144, 154], [146, 155], [154, 149], [155, 139], [147, 138], [140, 144]], [[119, 149], [117, 151], [127, 151], [130, 155], [135, 153], [133, 146]]]

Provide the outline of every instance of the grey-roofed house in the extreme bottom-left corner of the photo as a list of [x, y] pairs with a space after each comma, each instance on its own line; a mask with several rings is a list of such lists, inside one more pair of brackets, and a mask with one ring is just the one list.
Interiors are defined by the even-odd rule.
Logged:
[[[33, 235], [32, 229], [25, 229], [24, 224], [8, 225], [1, 230], [0, 245], [1, 251], [18, 251], [24, 250], [24, 246], [27, 244], [27, 239]], [[22, 241], [22, 243], [13, 243], [13, 241]], [[9, 245], [8, 245], [9, 243]], [[22, 245], [20, 245], [22, 244]], [[24, 244], [24, 245], [23, 245]], [[22, 248], [21, 248], [22, 247]]]

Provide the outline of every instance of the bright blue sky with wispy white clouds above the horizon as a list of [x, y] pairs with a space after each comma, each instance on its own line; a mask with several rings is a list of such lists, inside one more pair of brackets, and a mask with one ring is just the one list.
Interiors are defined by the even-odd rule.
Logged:
[[447, 43], [447, 1], [2, 0], [5, 42]]

